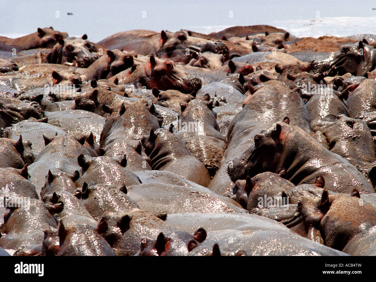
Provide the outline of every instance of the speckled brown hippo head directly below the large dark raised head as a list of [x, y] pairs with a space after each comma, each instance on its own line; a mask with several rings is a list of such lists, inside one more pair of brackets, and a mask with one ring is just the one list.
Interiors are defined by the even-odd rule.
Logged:
[[[294, 187], [293, 183], [282, 178], [279, 174], [267, 171], [252, 178], [247, 176], [246, 180], [237, 180], [235, 182], [236, 201], [248, 211], [252, 211], [259, 205], [269, 208], [273, 206], [274, 199], [279, 201], [275, 202], [277, 205], [282, 206], [288, 204], [287, 194]], [[259, 197], [262, 198], [261, 202]], [[271, 205], [270, 197], [272, 198]]]

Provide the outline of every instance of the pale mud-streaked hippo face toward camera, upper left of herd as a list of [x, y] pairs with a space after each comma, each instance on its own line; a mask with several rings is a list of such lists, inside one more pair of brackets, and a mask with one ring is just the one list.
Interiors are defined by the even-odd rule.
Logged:
[[[91, 65], [96, 59], [97, 55], [94, 55], [93, 52], [96, 52], [96, 47], [87, 39], [86, 35], [83, 35], [82, 38], [68, 37], [64, 39], [64, 45], [62, 46], [62, 61], [77, 63], [77, 67], [87, 68]], [[59, 41], [61, 44], [62, 42]]]

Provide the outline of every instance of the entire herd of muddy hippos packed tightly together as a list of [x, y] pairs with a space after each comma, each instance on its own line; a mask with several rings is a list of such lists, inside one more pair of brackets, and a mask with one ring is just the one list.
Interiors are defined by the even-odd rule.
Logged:
[[0, 254], [376, 255], [376, 36], [0, 36]]

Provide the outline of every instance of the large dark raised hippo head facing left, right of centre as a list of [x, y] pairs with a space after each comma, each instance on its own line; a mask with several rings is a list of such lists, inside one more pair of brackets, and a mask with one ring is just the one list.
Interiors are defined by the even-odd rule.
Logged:
[[245, 150], [240, 158], [230, 162], [227, 172], [233, 182], [264, 171], [279, 172], [283, 169], [280, 161], [284, 145], [280, 135], [284, 123], [290, 124], [288, 117], [283, 122], [274, 123], [270, 129], [256, 134], [255, 144]]

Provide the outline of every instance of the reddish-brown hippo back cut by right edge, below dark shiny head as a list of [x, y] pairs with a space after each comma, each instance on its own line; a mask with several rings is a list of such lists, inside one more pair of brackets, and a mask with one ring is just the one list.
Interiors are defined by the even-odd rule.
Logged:
[[350, 117], [355, 118], [360, 112], [376, 111], [376, 80], [365, 79], [350, 93], [347, 99]]

